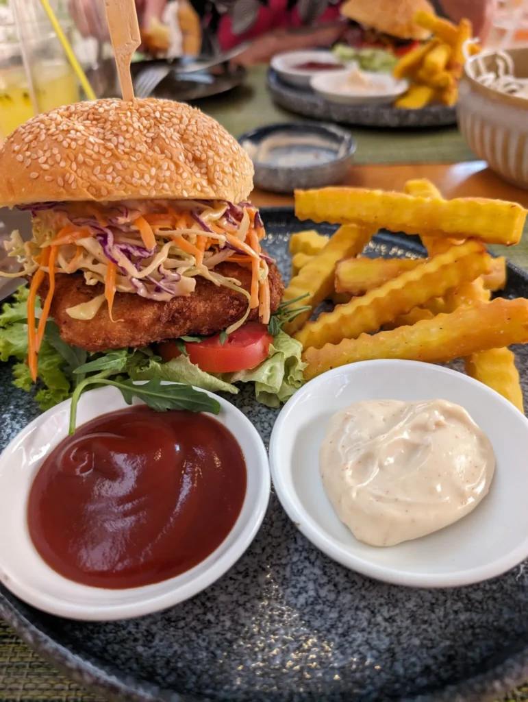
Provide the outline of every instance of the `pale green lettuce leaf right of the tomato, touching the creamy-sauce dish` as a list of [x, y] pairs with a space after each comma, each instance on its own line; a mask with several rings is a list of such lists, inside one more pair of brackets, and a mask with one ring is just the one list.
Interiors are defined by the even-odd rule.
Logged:
[[279, 407], [304, 383], [302, 371], [306, 364], [301, 360], [301, 352], [299, 341], [279, 331], [273, 337], [269, 356], [257, 368], [224, 373], [222, 377], [229, 383], [255, 383], [257, 401], [268, 407]]

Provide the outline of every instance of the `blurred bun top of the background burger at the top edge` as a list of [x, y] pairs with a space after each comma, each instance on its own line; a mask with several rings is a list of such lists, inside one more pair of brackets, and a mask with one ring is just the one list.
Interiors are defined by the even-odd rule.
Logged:
[[399, 39], [428, 39], [431, 32], [412, 20], [418, 10], [435, 14], [428, 0], [347, 0], [341, 6], [342, 15], [378, 32]]

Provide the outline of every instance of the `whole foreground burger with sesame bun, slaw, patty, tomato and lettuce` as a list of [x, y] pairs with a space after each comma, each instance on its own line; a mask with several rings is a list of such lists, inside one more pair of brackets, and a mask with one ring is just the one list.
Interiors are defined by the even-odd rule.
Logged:
[[272, 406], [302, 383], [252, 163], [214, 119], [170, 100], [79, 102], [16, 129], [0, 168], [0, 205], [32, 214], [32, 240], [6, 244], [28, 284], [0, 315], [0, 358], [18, 359], [26, 390], [39, 381], [42, 406], [81, 366], [227, 392], [252, 381]]

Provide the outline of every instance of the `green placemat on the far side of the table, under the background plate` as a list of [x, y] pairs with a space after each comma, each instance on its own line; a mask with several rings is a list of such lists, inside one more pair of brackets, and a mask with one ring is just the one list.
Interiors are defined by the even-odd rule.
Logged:
[[[243, 86], [200, 100], [196, 107], [236, 137], [273, 122], [302, 121], [299, 115], [273, 103], [266, 88], [266, 71], [266, 66], [251, 67]], [[358, 127], [351, 132], [358, 141], [356, 164], [451, 164], [476, 159], [456, 126], [417, 130]]]

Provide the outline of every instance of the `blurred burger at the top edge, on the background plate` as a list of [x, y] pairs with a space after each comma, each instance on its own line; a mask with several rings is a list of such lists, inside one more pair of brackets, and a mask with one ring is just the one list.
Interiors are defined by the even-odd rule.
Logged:
[[414, 22], [419, 10], [435, 14], [428, 0], [346, 0], [341, 6], [353, 22], [348, 41], [354, 48], [381, 48], [395, 56], [428, 39], [430, 32]]

